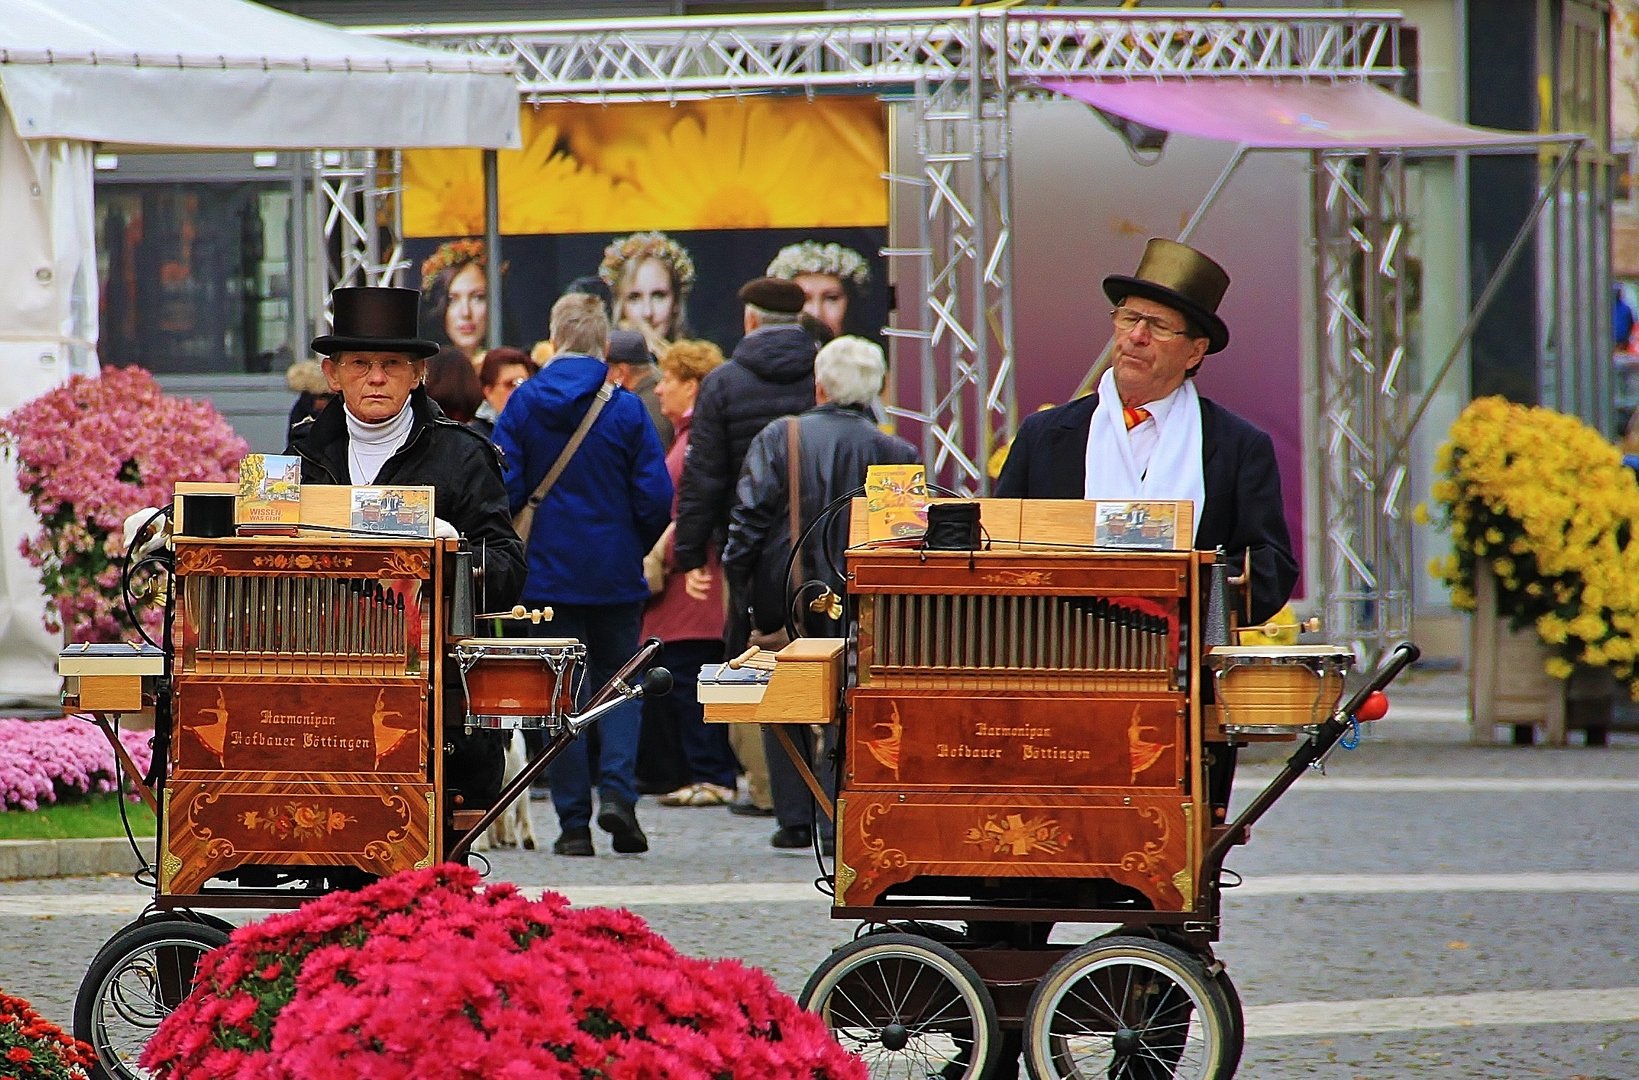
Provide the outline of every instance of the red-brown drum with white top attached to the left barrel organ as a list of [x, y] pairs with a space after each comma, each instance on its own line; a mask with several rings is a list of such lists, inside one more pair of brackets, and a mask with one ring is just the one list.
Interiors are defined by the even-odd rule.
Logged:
[[465, 638], [456, 644], [467, 728], [557, 731], [575, 708], [587, 647], [574, 638]]

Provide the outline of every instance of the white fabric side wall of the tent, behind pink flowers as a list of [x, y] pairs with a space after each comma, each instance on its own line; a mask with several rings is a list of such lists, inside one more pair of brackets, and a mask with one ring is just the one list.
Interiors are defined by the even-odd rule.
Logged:
[[[97, 370], [97, 244], [92, 147], [18, 138], [0, 108], [0, 413], [74, 374]], [[39, 528], [0, 461], [0, 705], [57, 700], [61, 639], [46, 631], [39, 572], [18, 554]]]

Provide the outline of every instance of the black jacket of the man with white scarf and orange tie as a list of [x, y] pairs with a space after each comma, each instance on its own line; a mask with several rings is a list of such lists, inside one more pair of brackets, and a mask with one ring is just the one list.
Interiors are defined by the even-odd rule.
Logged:
[[[1087, 434], [1098, 395], [1036, 413], [1019, 424], [997, 498], [1083, 498]], [[1206, 501], [1195, 529], [1201, 551], [1223, 547], [1234, 565], [1252, 552], [1252, 623], [1262, 623], [1292, 598], [1298, 560], [1287, 533], [1275, 444], [1259, 428], [1201, 398], [1201, 467]]]

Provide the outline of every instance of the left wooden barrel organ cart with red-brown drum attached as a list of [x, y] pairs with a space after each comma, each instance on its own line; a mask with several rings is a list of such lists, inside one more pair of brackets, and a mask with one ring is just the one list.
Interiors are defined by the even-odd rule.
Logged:
[[[59, 659], [64, 705], [95, 715], [159, 816], [152, 905], [102, 947], [75, 1000], [75, 1036], [105, 1077], [148, 1075], [143, 1047], [228, 939], [208, 908], [293, 908], [461, 859], [587, 724], [670, 685], [664, 669], [636, 678], [657, 642], [587, 698], [580, 642], [474, 638], [482, 552], [326, 533], [349, 521], [346, 487], [303, 488], [298, 536], [236, 536], [223, 498], [231, 485], [179, 487], [174, 554], [157, 557], [170, 649], [77, 644]], [[446, 665], [459, 667], [465, 715], [446, 716]], [[115, 734], [144, 706], [152, 785]], [[446, 723], [552, 737], [485, 811], [447, 790]]]

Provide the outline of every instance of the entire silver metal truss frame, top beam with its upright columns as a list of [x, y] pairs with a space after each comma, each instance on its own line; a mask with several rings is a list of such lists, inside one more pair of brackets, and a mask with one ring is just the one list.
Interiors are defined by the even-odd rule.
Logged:
[[[823, 21], [821, 21], [823, 20]], [[985, 464], [1016, 423], [1008, 105], [1037, 79], [1378, 80], [1401, 72], [1400, 16], [1355, 11], [1069, 11], [946, 8], [369, 28], [513, 61], [523, 102], [682, 100], [726, 93], [875, 92], [906, 108], [916, 161], [892, 184], [918, 213], [893, 236], [901, 306], [887, 329], [918, 400], [931, 475], [988, 488]], [[1319, 395], [1311, 447], [1326, 449], [1319, 544], [1329, 629], [1387, 641], [1410, 623], [1405, 356], [1400, 295], [1405, 192], [1398, 159], [1316, 156]], [[362, 184], [362, 179], [359, 180]], [[390, 185], [388, 185], [390, 187]], [[372, 190], [380, 190], [372, 188]], [[356, 221], [333, 215], [338, 225]], [[357, 215], [369, 221], [369, 213]], [[364, 233], [369, 233], [365, 228]], [[397, 269], [395, 252], [343, 259], [343, 274]], [[911, 433], [915, 434], [915, 433]]]

